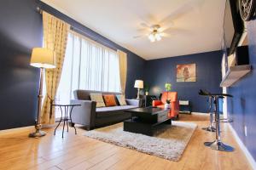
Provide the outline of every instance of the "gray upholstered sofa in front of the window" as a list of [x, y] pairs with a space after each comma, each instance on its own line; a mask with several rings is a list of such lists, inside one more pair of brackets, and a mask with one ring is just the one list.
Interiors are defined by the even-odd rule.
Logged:
[[88, 130], [91, 130], [96, 127], [104, 127], [122, 122], [131, 118], [131, 114], [125, 112], [125, 110], [140, 106], [138, 99], [126, 99], [127, 105], [96, 108], [96, 102], [90, 100], [91, 93], [118, 94], [90, 90], [75, 90], [73, 92], [74, 99], [71, 100], [71, 104], [79, 104], [81, 106], [73, 108], [72, 126], [74, 126], [74, 124], [81, 124], [87, 127]]

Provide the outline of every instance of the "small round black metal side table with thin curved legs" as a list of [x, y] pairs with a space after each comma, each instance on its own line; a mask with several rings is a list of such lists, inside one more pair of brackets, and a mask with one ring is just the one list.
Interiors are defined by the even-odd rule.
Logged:
[[[73, 111], [73, 107], [76, 106], [80, 106], [80, 105], [73, 105], [73, 104], [68, 104], [68, 105], [61, 105], [61, 104], [53, 104], [52, 106], [55, 107], [60, 107], [61, 109], [61, 119], [60, 121], [56, 121], [59, 122], [57, 127], [55, 127], [55, 132], [56, 129], [60, 126], [61, 122], [64, 122], [63, 128], [62, 128], [62, 138], [63, 138], [63, 133], [64, 133], [64, 129], [65, 129], [65, 125], [67, 123], [67, 132], [68, 132], [68, 121], [70, 121], [72, 123], [72, 111]], [[64, 116], [63, 116], [63, 110], [64, 109]], [[69, 111], [69, 115], [68, 115], [68, 111]], [[69, 116], [69, 117], [68, 117]], [[73, 128], [75, 129], [75, 134], [77, 134], [77, 129], [76, 127], [73, 126]], [[55, 133], [54, 133], [55, 134]]]

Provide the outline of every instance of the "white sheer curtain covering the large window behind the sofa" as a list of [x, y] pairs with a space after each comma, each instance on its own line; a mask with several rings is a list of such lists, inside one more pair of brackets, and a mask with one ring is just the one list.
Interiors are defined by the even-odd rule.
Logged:
[[110, 48], [70, 32], [56, 99], [69, 102], [75, 89], [120, 92], [119, 56]]

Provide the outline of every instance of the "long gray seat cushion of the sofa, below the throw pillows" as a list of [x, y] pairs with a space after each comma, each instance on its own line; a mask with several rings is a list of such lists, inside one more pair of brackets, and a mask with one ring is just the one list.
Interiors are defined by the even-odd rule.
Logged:
[[113, 107], [101, 107], [96, 108], [96, 116], [97, 117], [107, 117], [107, 116], [117, 116], [125, 114], [124, 110], [137, 108], [134, 105], [119, 105]]

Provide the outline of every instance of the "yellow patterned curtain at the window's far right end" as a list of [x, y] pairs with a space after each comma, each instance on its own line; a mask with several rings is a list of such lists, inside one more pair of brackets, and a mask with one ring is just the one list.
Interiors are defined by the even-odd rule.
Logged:
[[126, 76], [127, 76], [127, 54], [125, 52], [118, 50], [119, 55], [119, 73], [120, 73], [120, 84], [121, 92], [125, 95], [125, 86], [126, 86]]

